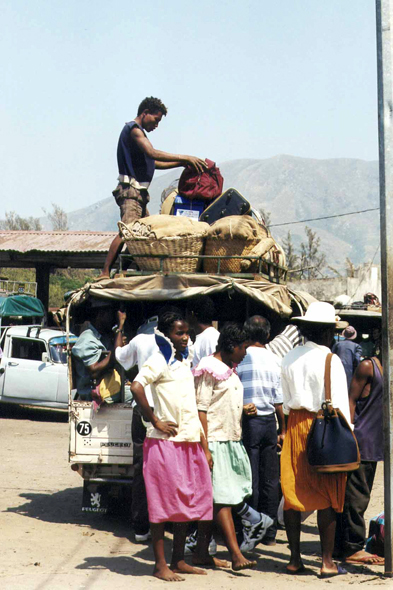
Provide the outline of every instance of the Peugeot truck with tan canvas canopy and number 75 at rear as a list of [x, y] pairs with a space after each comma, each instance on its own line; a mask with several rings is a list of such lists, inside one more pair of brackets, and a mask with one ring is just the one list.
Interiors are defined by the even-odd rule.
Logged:
[[[155, 257], [163, 260], [168, 255]], [[128, 328], [136, 333], [138, 326], [154, 315], [160, 304], [170, 302], [186, 307], [191, 298], [208, 295], [215, 303], [218, 326], [229, 320], [243, 322], [259, 313], [267, 317], [273, 331], [279, 333], [291, 315], [304, 313], [309, 299], [306, 294], [295, 293], [286, 286], [286, 269], [273, 262], [267, 267], [265, 264], [264, 268], [266, 272], [260, 272], [259, 265], [258, 274], [211, 275], [164, 271], [160, 264], [159, 271], [122, 272], [114, 279], [89, 284], [70, 295], [67, 332], [71, 332], [75, 321], [83, 321], [83, 307], [89, 300], [121, 304], [127, 313]], [[104, 513], [113, 498], [127, 493], [132, 482], [132, 404], [103, 404], [96, 412], [92, 402], [75, 398], [70, 351], [68, 362], [69, 462], [71, 469], [83, 479], [82, 510]]]

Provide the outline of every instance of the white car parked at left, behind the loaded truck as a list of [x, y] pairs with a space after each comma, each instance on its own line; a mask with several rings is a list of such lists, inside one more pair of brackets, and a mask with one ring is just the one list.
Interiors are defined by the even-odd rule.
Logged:
[[[71, 344], [77, 340], [70, 335]], [[41, 326], [9, 326], [0, 347], [0, 402], [68, 409], [65, 332]]]

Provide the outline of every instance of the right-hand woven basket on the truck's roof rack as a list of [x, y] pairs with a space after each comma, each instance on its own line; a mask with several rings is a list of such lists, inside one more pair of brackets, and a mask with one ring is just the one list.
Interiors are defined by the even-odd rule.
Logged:
[[[205, 246], [205, 255], [209, 256], [240, 256], [247, 255], [260, 242], [259, 238], [251, 240], [241, 240], [232, 238], [229, 240], [220, 240], [219, 238], [208, 237]], [[225, 272], [240, 273], [241, 258], [233, 260], [222, 259], [220, 262], [220, 274]], [[257, 261], [255, 261], [257, 263]], [[203, 270], [209, 274], [218, 273], [218, 260], [206, 258], [203, 261]], [[248, 271], [250, 272], [250, 271]]]

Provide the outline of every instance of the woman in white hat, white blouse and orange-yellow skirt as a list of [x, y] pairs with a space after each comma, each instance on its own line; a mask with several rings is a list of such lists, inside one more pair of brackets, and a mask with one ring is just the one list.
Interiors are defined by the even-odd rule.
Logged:
[[[336, 512], [344, 506], [346, 474], [319, 474], [307, 461], [306, 441], [313, 418], [324, 399], [326, 356], [330, 353], [336, 329], [347, 322], [336, 320], [329, 303], [311, 303], [304, 317], [293, 318], [302, 335], [304, 346], [291, 350], [282, 362], [284, 412], [289, 414], [287, 434], [281, 454], [281, 486], [284, 494], [284, 521], [291, 559], [288, 574], [304, 574], [300, 554], [301, 512], [318, 511], [321, 539], [321, 577], [347, 573], [333, 562]], [[344, 367], [337, 356], [331, 365], [331, 396], [350, 423], [347, 381]]]

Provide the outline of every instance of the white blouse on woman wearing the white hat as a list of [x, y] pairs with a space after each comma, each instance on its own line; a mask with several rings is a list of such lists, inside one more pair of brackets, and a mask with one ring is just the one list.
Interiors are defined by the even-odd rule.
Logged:
[[[325, 362], [330, 353], [327, 346], [308, 341], [284, 356], [281, 367], [284, 413], [305, 409], [318, 412], [325, 399]], [[331, 364], [331, 397], [351, 424], [349, 414], [348, 386], [343, 364], [337, 355]]]

